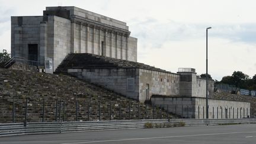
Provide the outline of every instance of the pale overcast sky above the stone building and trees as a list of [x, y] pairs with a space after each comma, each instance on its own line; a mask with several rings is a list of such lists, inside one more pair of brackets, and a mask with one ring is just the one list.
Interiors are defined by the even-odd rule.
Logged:
[[11, 16], [43, 15], [45, 7], [75, 6], [127, 23], [138, 39], [138, 62], [177, 72], [206, 72], [213, 79], [242, 71], [256, 74], [256, 1], [249, 0], [0, 0], [0, 50], [11, 51]]

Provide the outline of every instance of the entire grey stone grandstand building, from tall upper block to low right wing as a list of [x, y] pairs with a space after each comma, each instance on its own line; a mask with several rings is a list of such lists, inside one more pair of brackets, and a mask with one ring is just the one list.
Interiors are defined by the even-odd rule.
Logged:
[[[137, 39], [126, 23], [76, 7], [46, 7], [43, 16], [11, 17], [11, 56], [46, 72], [66, 73], [179, 115], [206, 116], [206, 79], [137, 62]], [[207, 85], [214, 92], [213, 80]], [[190, 108], [188, 108], [190, 106]], [[221, 113], [220, 113], [221, 111]], [[209, 118], [248, 117], [250, 103], [209, 100]]]

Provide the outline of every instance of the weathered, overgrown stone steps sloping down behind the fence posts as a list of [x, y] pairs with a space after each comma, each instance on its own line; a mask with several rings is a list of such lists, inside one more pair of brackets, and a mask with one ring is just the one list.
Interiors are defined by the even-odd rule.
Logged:
[[[72, 65], [72, 63], [69, 63]], [[78, 103], [78, 121], [99, 120], [99, 105], [101, 120], [110, 120], [110, 103], [112, 120], [130, 119], [162, 119], [167, 118], [167, 112], [152, 105], [138, 103], [123, 95], [92, 85], [67, 75], [51, 75], [39, 72], [26, 72], [10, 69], [0, 69], [0, 123], [12, 122], [12, 104], [14, 103], [15, 122], [24, 121], [25, 101], [28, 98], [27, 121], [42, 121], [43, 100], [44, 121], [76, 120], [76, 102]], [[56, 114], [57, 101], [57, 114]], [[65, 105], [64, 105], [65, 101]], [[121, 105], [121, 106], [120, 106]], [[138, 117], [139, 105], [139, 117]], [[65, 111], [64, 107], [65, 106]], [[120, 117], [121, 108], [121, 117]], [[146, 117], [147, 111], [147, 117]], [[155, 114], [153, 114], [155, 111]], [[169, 114], [172, 119], [174, 115]]]

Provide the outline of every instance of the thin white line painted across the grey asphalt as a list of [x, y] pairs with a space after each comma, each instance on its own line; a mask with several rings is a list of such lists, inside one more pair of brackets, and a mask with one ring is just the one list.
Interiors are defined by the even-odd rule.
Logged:
[[113, 139], [113, 140], [98, 140], [98, 141], [88, 141], [88, 142], [73, 142], [73, 143], [61, 143], [61, 144], [81, 144], [81, 143], [100, 143], [100, 142], [119, 142], [127, 140], [143, 140], [143, 139], [162, 139], [162, 138], [172, 138], [172, 137], [191, 137], [191, 136], [211, 136], [211, 135], [229, 135], [236, 133], [256, 133], [256, 132], [232, 132], [232, 133], [207, 133], [199, 135], [181, 135], [181, 136], [161, 136], [161, 137], [141, 137], [132, 139]]

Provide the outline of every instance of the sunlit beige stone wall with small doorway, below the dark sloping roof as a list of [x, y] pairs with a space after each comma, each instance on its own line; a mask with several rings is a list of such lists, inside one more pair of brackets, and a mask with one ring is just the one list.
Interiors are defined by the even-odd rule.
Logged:
[[180, 75], [175, 73], [156, 72], [139, 69], [140, 101], [147, 100], [147, 84], [149, 85], [149, 99], [151, 95], [179, 95]]

